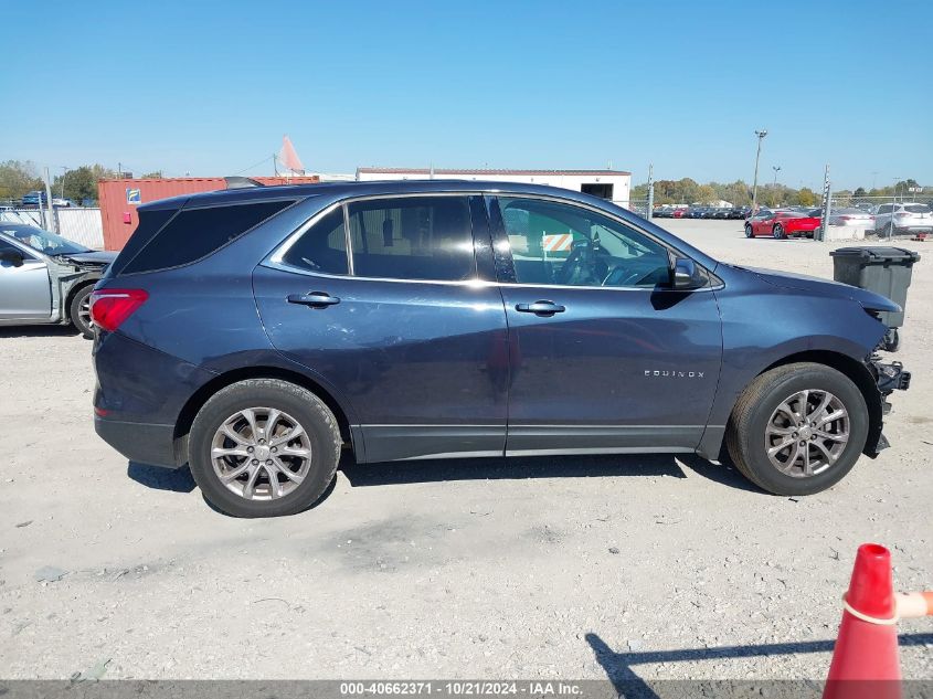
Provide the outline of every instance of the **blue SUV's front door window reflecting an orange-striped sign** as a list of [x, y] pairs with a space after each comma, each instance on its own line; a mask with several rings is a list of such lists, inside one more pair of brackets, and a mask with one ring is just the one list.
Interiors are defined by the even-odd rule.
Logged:
[[654, 288], [670, 283], [667, 248], [589, 209], [499, 199], [519, 284]]

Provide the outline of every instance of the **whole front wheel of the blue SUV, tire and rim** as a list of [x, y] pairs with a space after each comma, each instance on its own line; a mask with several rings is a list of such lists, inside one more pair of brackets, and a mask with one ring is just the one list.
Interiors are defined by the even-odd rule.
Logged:
[[812, 495], [855, 466], [868, 436], [865, 398], [845, 374], [799, 362], [757, 377], [727, 428], [727, 447], [749, 480], [775, 495]]

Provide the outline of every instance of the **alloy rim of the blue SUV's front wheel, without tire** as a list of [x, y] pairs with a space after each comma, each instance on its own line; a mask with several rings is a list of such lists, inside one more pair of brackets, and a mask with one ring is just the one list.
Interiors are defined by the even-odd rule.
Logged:
[[794, 478], [830, 468], [849, 443], [849, 412], [828, 391], [798, 391], [772, 413], [764, 448], [772, 466]]

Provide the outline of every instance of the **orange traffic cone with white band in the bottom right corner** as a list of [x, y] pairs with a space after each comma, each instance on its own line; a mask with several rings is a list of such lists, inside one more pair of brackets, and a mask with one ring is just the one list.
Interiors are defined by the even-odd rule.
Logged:
[[824, 699], [900, 699], [898, 607], [888, 549], [859, 547], [842, 604]]

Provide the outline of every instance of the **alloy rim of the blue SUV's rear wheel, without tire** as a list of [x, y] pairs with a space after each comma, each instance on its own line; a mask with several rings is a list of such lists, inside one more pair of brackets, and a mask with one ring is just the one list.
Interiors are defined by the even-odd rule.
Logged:
[[273, 500], [293, 493], [311, 467], [311, 441], [288, 413], [248, 407], [227, 417], [211, 442], [220, 481], [247, 500]]

